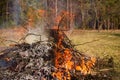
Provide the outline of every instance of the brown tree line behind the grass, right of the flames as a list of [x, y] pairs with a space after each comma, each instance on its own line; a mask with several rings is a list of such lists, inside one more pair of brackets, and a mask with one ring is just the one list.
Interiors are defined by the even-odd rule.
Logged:
[[120, 29], [120, 0], [77, 0], [75, 25], [81, 29]]

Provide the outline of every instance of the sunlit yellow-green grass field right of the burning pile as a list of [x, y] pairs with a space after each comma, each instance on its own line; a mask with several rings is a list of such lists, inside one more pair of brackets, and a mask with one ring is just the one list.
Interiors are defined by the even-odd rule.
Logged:
[[100, 58], [112, 56], [120, 78], [120, 31], [74, 30], [69, 38], [79, 51], [88, 56]]

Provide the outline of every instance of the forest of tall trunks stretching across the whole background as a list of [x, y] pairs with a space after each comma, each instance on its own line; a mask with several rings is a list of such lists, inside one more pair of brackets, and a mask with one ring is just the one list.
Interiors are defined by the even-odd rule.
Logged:
[[[58, 5], [54, 5], [56, 2]], [[119, 3], [120, 0], [4, 0], [0, 2], [0, 25], [23, 25], [30, 18], [36, 22], [42, 14], [40, 10], [49, 12], [48, 8], [57, 6], [71, 11], [74, 15], [74, 28], [120, 29]]]

